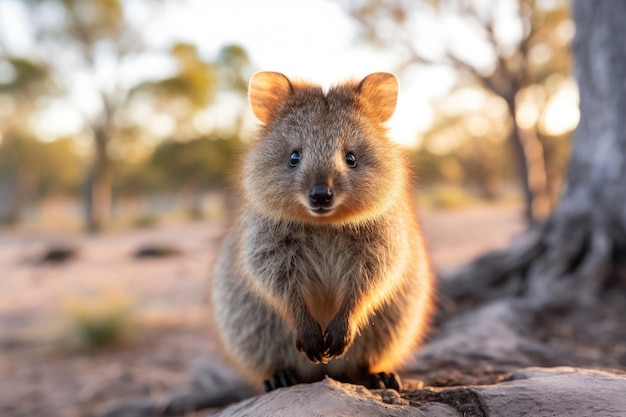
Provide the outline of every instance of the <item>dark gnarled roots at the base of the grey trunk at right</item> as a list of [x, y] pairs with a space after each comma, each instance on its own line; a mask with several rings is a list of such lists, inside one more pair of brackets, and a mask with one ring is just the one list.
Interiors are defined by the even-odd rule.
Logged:
[[560, 209], [511, 247], [444, 278], [442, 295], [461, 310], [497, 298], [525, 299], [535, 311], [598, 302], [624, 269], [626, 237], [616, 224], [606, 213]]

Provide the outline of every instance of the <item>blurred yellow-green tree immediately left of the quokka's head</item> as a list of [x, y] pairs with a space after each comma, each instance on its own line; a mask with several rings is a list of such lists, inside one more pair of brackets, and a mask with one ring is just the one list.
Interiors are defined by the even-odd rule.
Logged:
[[153, 178], [170, 191], [180, 191], [191, 216], [199, 217], [202, 194], [225, 184], [235, 151], [241, 145], [245, 107], [240, 108], [235, 126], [228, 132], [219, 132], [219, 125], [204, 126], [198, 120], [212, 115], [210, 106], [220, 93], [245, 98], [250, 61], [246, 52], [235, 45], [222, 48], [213, 62], [202, 59], [190, 44], [176, 44], [171, 53], [178, 71], [166, 79], [137, 86], [131, 100], [147, 100], [157, 113], [174, 119], [176, 129], [157, 146], [149, 161], [150, 171], [145, 174], [156, 175]]

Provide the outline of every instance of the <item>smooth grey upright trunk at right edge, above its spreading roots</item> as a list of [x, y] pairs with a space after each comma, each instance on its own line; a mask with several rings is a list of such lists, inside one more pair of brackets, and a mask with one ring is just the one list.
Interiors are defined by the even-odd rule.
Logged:
[[[574, 3], [581, 120], [565, 204], [587, 201], [626, 224], [626, 2]], [[600, 204], [598, 204], [600, 203]]]

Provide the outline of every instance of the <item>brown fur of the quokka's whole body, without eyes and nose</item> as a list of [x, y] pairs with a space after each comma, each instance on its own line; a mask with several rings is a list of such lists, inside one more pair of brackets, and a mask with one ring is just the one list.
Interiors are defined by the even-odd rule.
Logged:
[[[242, 159], [241, 214], [212, 300], [227, 352], [252, 377], [355, 382], [399, 366], [423, 337], [433, 279], [409, 163], [382, 125], [396, 97], [387, 73], [326, 93], [278, 73], [253, 77], [250, 103], [265, 125]], [[309, 207], [316, 183], [333, 191], [324, 215]]]

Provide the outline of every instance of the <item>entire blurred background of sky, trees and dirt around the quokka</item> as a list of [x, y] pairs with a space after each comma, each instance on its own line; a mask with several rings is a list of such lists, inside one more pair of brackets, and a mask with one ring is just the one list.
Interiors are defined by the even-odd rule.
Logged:
[[0, 414], [191, 384], [255, 71], [398, 74], [445, 270], [555, 207], [574, 31], [564, 0], [0, 0]]

